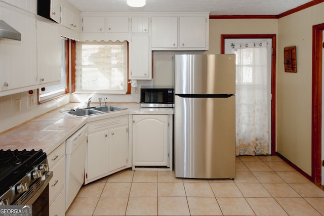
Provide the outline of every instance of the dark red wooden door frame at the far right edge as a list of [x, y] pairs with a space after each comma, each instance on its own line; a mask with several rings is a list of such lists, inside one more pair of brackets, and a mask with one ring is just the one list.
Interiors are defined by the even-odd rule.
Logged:
[[312, 38], [312, 181], [321, 185], [322, 37], [324, 23], [313, 26]]

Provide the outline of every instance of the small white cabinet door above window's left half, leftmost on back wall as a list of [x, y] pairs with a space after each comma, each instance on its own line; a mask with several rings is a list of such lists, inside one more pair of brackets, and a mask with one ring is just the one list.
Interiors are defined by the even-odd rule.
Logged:
[[105, 33], [105, 17], [83, 17], [82, 31], [85, 33]]

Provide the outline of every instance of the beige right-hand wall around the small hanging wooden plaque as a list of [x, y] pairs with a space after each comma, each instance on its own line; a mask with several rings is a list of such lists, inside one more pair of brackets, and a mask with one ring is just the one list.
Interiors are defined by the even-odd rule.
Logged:
[[[278, 20], [277, 151], [311, 175], [312, 26], [324, 3]], [[284, 48], [296, 46], [297, 73], [286, 73]]]

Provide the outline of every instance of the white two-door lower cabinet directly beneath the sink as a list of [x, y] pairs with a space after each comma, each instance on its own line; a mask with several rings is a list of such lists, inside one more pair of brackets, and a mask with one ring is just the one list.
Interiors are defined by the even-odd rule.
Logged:
[[127, 168], [128, 115], [89, 123], [85, 184]]

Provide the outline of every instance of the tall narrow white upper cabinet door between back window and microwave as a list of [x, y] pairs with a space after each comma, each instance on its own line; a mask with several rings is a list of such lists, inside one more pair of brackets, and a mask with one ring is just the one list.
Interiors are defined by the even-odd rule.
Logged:
[[151, 79], [151, 56], [149, 35], [133, 35], [130, 79]]

